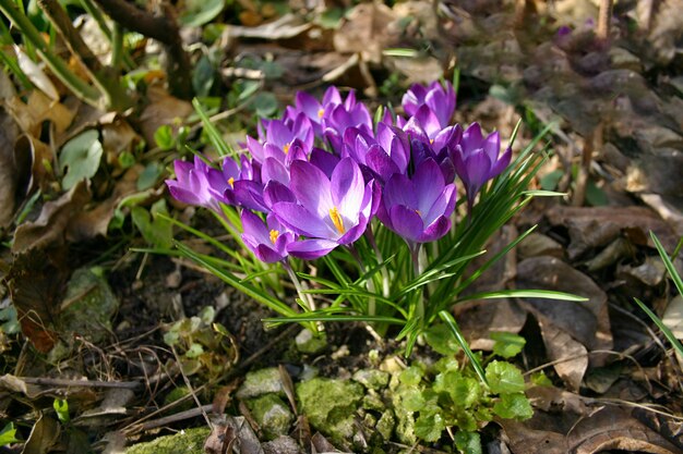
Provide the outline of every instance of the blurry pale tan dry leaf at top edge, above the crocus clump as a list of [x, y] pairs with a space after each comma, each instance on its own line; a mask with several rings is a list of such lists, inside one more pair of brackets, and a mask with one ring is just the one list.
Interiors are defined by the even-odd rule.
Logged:
[[384, 3], [361, 3], [347, 15], [334, 36], [334, 47], [342, 53], [359, 52], [363, 60], [382, 61], [382, 51], [395, 39], [388, 25], [396, 19]]

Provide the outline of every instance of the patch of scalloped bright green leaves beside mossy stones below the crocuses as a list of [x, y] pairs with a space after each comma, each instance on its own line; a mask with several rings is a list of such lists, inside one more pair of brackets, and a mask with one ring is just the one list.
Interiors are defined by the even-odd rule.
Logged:
[[427, 442], [440, 440], [446, 428], [457, 429], [456, 446], [469, 454], [481, 453], [477, 431], [494, 415], [508, 419], [532, 416], [524, 395], [524, 378], [514, 365], [491, 361], [486, 369], [489, 386], [466, 365], [444, 357], [427, 370], [417, 366], [404, 370], [394, 390], [399, 427], [412, 425], [415, 437]]

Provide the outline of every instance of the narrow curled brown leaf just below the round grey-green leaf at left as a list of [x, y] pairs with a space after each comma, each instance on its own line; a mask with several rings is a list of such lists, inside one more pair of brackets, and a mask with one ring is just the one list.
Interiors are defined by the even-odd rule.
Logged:
[[79, 182], [57, 200], [43, 206], [40, 216], [33, 222], [24, 222], [14, 232], [14, 254], [32, 248], [46, 248], [62, 244], [67, 238], [69, 223], [91, 200], [91, 192], [85, 181]]

